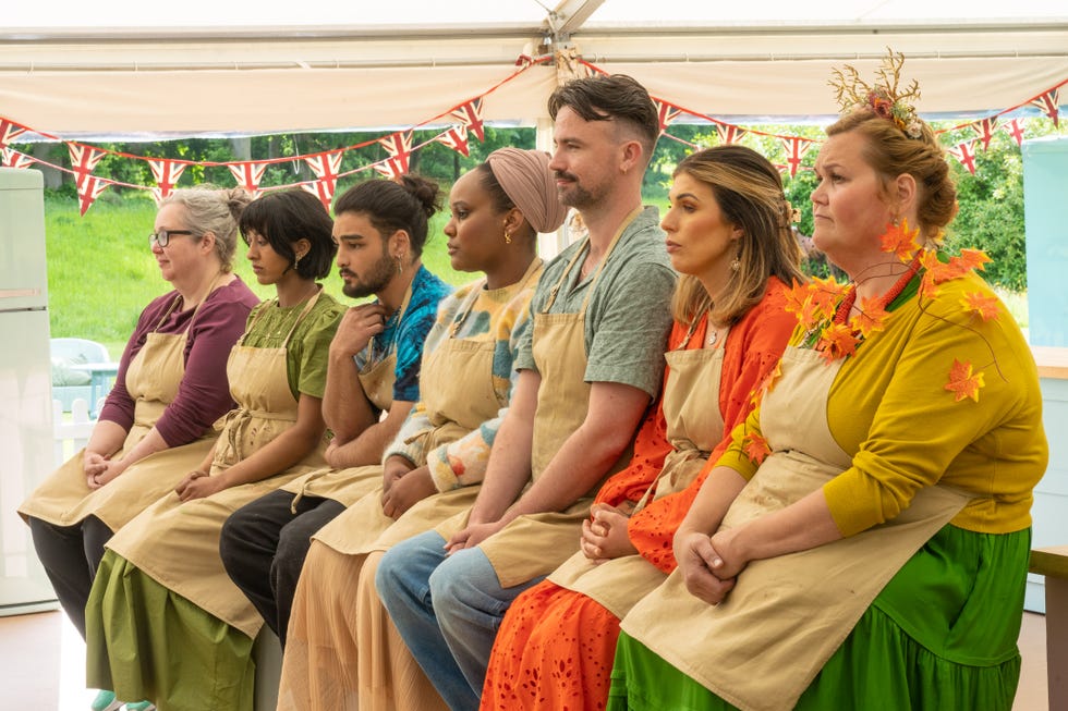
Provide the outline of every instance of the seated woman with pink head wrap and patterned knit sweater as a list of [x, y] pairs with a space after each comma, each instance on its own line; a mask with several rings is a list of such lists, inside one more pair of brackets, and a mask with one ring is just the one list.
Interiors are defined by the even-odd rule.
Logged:
[[441, 302], [420, 402], [387, 448], [381, 487], [313, 539], [279, 709], [445, 708], [378, 601], [375, 571], [392, 544], [465, 510], [478, 492], [542, 275], [537, 234], [567, 216], [548, 162], [542, 151], [501, 148], [452, 186], [449, 257], [453, 269], [482, 275]]

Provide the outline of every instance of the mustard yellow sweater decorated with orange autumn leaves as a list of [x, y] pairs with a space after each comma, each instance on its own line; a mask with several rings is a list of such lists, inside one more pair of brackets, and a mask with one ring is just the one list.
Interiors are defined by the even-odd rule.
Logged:
[[[839, 370], [827, 422], [853, 459], [824, 494], [844, 536], [894, 518], [935, 483], [974, 497], [955, 526], [1007, 534], [1031, 525], [1032, 489], [1048, 458], [1037, 370], [1004, 305], [990, 321], [964, 309], [961, 299], [974, 292], [991, 295], [969, 274], [939, 284], [934, 299], [913, 295]], [[956, 402], [945, 389], [955, 359], [983, 373], [978, 402]], [[755, 474], [741, 442], [758, 424], [754, 410], [719, 464]]]

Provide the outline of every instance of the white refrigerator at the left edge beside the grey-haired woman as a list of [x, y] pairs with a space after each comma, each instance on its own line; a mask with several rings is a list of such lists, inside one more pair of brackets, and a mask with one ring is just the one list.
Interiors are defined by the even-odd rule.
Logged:
[[53, 468], [39, 171], [0, 168], [0, 615], [56, 606], [16, 508]]

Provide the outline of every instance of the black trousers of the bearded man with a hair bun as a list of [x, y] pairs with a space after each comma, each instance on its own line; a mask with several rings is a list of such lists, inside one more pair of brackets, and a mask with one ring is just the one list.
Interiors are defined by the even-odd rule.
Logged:
[[282, 645], [293, 609], [296, 581], [312, 547], [312, 536], [333, 520], [344, 505], [331, 499], [272, 491], [230, 515], [219, 538], [222, 564], [275, 630]]

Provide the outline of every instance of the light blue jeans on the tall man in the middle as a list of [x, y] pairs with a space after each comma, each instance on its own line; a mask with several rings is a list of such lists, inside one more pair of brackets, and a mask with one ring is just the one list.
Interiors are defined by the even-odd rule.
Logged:
[[445, 539], [427, 531], [386, 552], [375, 587], [415, 661], [449, 708], [461, 711], [478, 708], [505, 612], [539, 580], [502, 588], [482, 550], [448, 555]]

